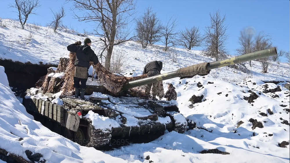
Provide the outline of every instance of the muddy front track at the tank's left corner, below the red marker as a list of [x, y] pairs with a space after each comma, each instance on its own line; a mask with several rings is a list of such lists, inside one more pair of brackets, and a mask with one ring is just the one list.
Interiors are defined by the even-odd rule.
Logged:
[[101, 147], [105, 146], [106, 144], [110, 143], [110, 140], [112, 138], [112, 131], [109, 129], [102, 130], [102, 129], [95, 129], [94, 126], [92, 126], [92, 123], [90, 120], [87, 120], [89, 122], [88, 124], [88, 143], [86, 146], [88, 147]]

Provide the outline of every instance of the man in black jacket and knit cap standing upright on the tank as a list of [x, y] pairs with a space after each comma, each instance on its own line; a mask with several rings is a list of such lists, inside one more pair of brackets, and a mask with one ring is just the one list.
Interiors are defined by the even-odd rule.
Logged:
[[[75, 73], [73, 77], [75, 98], [78, 98], [80, 93], [81, 99], [84, 99], [90, 61], [93, 61], [94, 64], [99, 63], [97, 55], [90, 47], [91, 44], [92, 41], [89, 38], [86, 38], [84, 40], [84, 45], [78, 45], [77, 43], [74, 43], [68, 45], [67, 47], [68, 51], [75, 52], [77, 54], [77, 57], [75, 58]], [[81, 85], [79, 82], [81, 82]]]

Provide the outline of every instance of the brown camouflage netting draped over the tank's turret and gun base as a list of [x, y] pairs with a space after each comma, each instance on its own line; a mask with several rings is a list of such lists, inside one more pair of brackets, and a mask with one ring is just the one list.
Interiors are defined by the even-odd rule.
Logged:
[[[69, 59], [68, 58], [60, 58], [59, 65], [55, 73], [64, 72], [64, 77], [62, 79], [55, 77], [48, 77], [48, 74], [52, 73], [52, 69], [48, 69], [48, 73], [44, 79], [42, 84], [42, 90], [44, 93], [56, 93], [58, 91], [62, 91], [62, 95], [71, 96], [74, 87], [73, 87], [73, 76], [74, 76], [74, 68], [75, 68], [75, 58], [76, 54], [70, 52]], [[93, 62], [90, 62], [93, 65]], [[146, 78], [147, 75], [141, 75], [136, 77], [125, 77], [117, 74], [113, 74], [105, 69], [100, 63], [93, 65], [93, 68], [96, 70], [99, 80], [102, 85], [108, 89], [108, 91], [117, 94], [121, 91], [122, 87], [129, 81]], [[160, 98], [164, 95], [163, 83], [160, 81], [158, 83], [157, 96]], [[131, 96], [136, 97], [146, 97], [145, 95], [145, 86], [135, 87], [128, 90], [128, 93]]]

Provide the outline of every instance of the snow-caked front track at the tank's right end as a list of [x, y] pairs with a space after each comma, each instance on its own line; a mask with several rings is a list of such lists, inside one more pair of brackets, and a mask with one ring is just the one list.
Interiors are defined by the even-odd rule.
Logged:
[[180, 114], [180, 116], [184, 117], [181, 113], [178, 113], [176, 111], [170, 111], [166, 113], [166, 116], [169, 116], [171, 120], [174, 122], [174, 128], [173, 131], [178, 132], [178, 133], [184, 133], [187, 129], [187, 121], [184, 118], [184, 121], [180, 122], [180, 120], [176, 120], [174, 118], [174, 114]]

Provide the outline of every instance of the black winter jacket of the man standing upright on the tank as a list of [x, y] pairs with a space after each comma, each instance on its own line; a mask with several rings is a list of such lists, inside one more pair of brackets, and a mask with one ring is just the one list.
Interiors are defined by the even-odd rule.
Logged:
[[68, 51], [75, 52], [77, 57], [75, 58], [75, 66], [87, 67], [90, 68], [90, 61], [93, 61], [94, 64], [99, 63], [99, 59], [91, 47], [87, 44], [77, 45], [71, 44], [68, 45]]

